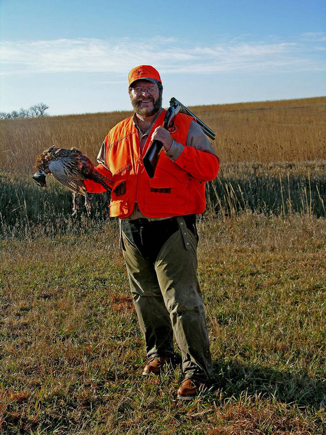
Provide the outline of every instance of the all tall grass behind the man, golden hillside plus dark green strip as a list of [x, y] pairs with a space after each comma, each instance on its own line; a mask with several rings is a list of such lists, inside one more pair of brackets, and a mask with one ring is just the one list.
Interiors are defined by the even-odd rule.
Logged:
[[[208, 213], [325, 217], [326, 97], [192, 108], [217, 133], [221, 160], [208, 184]], [[64, 233], [85, 225], [84, 206], [71, 219], [71, 194], [56, 182], [32, 182], [38, 153], [77, 146], [93, 161], [108, 130], [131, 112], [0, 121], [1, 234]], [[107, 217], [106, 195], [92, 195], [91, 221]], [[82, 219], [82, 223], [80, 221]]]

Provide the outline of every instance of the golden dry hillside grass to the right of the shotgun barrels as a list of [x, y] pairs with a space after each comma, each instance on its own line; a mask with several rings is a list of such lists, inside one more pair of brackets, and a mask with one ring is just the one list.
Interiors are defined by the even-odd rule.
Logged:
[[201, 106], [222, 162], [326, 160], [326, 97]]

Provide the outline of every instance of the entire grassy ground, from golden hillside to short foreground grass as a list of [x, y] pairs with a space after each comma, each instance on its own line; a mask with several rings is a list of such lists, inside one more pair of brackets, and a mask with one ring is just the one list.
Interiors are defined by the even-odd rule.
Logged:
[[179, 366], [140, 375], [108, 198], [73, 219], [69, 193], [31, 181], [50, 145], [95, 160], [127, 113], [0, 122], [0, 433], [326, 433], [325, 107], [193, 108], [219, 132], [221, 172], [198, 225], [214, 382], [189, 403], [176, 400]]

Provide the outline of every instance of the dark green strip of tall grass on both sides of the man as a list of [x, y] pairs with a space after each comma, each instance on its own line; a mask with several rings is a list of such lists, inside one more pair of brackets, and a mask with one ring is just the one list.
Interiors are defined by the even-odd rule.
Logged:
[[[325, 217], [326, 161], [275, 164], [226, 164], [220, 176], [208, 183], [206, 215], [234, 217], [241, 213], [315, 215]], [[0, 173], [2, 237], [66, 234], [108, 218], [107, 194], [90, 194], [91, 217], [84, 198], [72, 218], [71, 192], [48, 177], [40, 189], [31, 177]]]

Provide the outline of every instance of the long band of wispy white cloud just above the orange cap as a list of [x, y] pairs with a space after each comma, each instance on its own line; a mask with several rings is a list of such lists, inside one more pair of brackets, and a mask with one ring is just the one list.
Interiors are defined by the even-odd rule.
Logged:
[[[324, 69], [312, 56], [325, 36], [306, 33], [291, 42], [244, 42], [243, 37], [212, 45], [176, 38], [58, 39], [0, 44], [2, 74], [53, 72], [111, 72], [125, 74], [132, 66], [150, 63], [162, 73], [276, 72]], [[304, 42], [309, 40], [311, 43]], [[118, 79], [117, 79], [118, 80]]]

